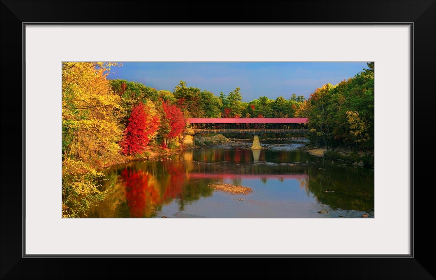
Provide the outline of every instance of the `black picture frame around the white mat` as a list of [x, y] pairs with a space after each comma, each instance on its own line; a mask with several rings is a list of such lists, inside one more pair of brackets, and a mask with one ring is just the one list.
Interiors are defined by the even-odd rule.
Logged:
[[[435, 1], [1, 1], [1, 279], [435, 279]], [[204, 11], [198, 14], [197, 8]], [[211, 8], [212, 7], [212, 8]], [[25, 23], [410, 24], [410, 256], [39, 256], [23, 251]], [[370, 38], [368, 39], [370, 43]], [[392, 94], [395, 102], [395, 93]], [[431, 114], [430, 114], [431, 113]], [[416, 137], [414, 137], [416, 136]], [[425, 148], [425, 151], [421, 151]], [[430, 152], [431, 151], [431, 152]], [[428, 160], [431, 157], [431, 161]], [[407, 157], [405, 157], [407, 158]], [[406, 163], [405, 163], [406, 164]], [[389, 163], [386, 163], [389, 168]], [[37, 211], [37, 209], [36, 209]], [[395, 209], [393, 215], [409, 215]], [[430, 215], [429, 215], [430, 214]], [[44, 229], [42, 229], [44, 230]], [[66, 241], [68, 233], [66, 233]], [[213, 242], [213, 241], [212, 241]], [[310, 241], [307, 241], [310, 242]], [[320, 233], [319, 240], [326, 242]], [[340, 242], [340, 241], [338, 241]]]

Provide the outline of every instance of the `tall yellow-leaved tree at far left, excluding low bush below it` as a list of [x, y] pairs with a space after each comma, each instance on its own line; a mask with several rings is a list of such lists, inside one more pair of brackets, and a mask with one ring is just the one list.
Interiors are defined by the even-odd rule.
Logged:
[[62, 65], [63, 157], [109, 163], [118, 155], [120, 97], [106, 79], [113, 63]]

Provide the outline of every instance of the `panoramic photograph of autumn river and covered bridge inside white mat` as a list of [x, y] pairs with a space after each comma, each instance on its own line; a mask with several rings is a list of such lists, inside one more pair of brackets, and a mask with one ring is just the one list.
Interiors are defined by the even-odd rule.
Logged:
[[374, 62], [62, 62], [62, 217], [373, 218]]

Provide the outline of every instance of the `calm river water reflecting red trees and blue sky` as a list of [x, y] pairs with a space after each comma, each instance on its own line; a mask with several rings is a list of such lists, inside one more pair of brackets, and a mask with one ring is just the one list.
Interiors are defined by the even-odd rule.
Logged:
[[[248, 144], [248, 142], [246, 143]], [[112, 167], [111, 194], [88, 217], [332, 218], [374, 217], [374, 171], [297, 149], [301, 141], [243, 142], [184, 151], [171, 160]], [[250, 187], [247, 195], [209, 184]], [[243, 200], [239, 200], [243, 199]], [[318, 213], [327, 211], [328, 213]]]

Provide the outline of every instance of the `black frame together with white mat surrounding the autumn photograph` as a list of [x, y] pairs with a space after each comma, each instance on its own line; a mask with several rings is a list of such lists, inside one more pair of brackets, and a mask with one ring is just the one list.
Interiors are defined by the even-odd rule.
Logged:
[[[165, 268], [145, 279], [435, 279], [434, 176], [414, 164], [417, 143], [434, 147], [435, 1], [221, 1], [201, 20], [194, 1], [85, 3], [1, 2], [2, 279], [133, 279], [144, 264]], [[375, 217], [62, 219], [62, 61], [374, 61]], [[211, 275], [182, 274], [192, 263]]]

